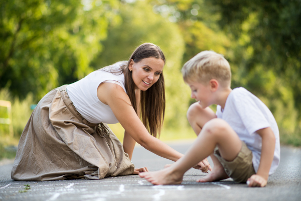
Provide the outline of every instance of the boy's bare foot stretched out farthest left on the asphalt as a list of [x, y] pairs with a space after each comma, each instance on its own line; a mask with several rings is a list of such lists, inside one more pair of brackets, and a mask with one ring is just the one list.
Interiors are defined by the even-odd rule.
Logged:
[[156, 172], [141, 172], [139, 176], [155, 185], [179, 184], [183, 181], [183, 174], [181, 176], [181, 174], [173, 172], [171, 168]]

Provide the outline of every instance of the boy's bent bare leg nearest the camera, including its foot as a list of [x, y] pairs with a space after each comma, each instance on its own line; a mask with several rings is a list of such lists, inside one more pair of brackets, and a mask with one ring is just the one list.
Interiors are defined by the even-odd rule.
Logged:
[[221, 156], [228, 161], [234, 160], [241, 149], [241, 141], [237, 134], [221, 119], [207, 122], [185, 156], [172, 166], [157, 172], [142, 172], [139, 176], [157, 185], [181, 183], [184, 173], [213, 153], [216, 145]]

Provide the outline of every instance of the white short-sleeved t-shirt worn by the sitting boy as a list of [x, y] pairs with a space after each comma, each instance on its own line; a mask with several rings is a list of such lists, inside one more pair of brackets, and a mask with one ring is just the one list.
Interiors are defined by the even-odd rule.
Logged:
[[217, 106], [216, 115], [225, 120], [252, 151], [255, 172], [260, 162], [262, 143], [256, 131], [271, 127], [276, 144], [269, 174], [276, 170], [280, 161], [279, 130], [274, 116], [258, 97], [243, 87], [234, 88], [226, 100], [224, 110], [221, 111], [221, 106]]

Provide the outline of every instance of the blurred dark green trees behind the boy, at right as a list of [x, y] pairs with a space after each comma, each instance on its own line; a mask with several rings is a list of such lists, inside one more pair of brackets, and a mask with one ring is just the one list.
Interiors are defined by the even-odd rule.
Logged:
[[231, 87], [258, 96], [277, 121], [280, 141], [301, 146], [301, 1], [149, 2], [180, 27], [183, 64], [203, 50], [223, 54], [231, 65]]

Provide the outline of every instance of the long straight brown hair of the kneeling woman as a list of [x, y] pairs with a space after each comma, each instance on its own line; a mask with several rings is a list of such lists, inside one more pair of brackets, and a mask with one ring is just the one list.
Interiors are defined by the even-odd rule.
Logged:
[[[129, 57], [127, 65], [120, 67], [124, 74], [126, 93], [136, 113], [137, 103], [134, 89], [135, 84], [132, 78], [132, 72], [128, 69], [128, 65], [131, 60], [137, 63], [144, 58], [150, 57], [162, 59], [164, 63], [166, 62], [165, 56], [159, 46], [153, 43], [144, 43], [135, 49]], [[160, 137], [165, 115], [165, 87], [163, 73], [160, 74], [160, 77], [155, 84], [145, 91], [141, 90], [140, 105], [143, 125], [150, 135], [156, 137], [157, 134], [159, 134]]]

